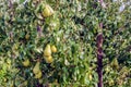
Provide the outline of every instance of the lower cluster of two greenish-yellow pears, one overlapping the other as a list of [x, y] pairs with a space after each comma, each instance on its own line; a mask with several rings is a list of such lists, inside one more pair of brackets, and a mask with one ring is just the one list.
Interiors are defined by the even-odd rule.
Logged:
[[33, 73], [35, 74], [35, 78], [41, 78], [41, 76], [43, 76], [43, 73], [41, 73], [41, 71], [39, 69], [39, 64], [40, 64], [39, 61], [36, 62], [36, 65], [33, 69]]

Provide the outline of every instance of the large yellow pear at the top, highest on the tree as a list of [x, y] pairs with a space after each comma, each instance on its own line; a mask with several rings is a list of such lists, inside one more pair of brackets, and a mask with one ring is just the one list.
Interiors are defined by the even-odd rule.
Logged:
[[44, 11], [43, 11], [43, 16], [44, 16], [44, 17], [48, 17], [48, 16], [50, 16], [50, 15], [52, 15], [52, 14], [53, 14], [52, 8], [51, 8], [50, 5], [48, 5], [48, 4], [46, 4], [46, 5], [45, 5], [45, 9], [44, 9]]

